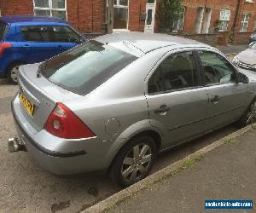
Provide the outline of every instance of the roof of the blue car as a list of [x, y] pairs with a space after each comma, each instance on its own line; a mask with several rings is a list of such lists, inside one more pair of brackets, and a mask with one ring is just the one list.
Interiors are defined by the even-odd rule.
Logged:
[[46, 16], [34, 16], [34, 15], [9, 15], [0, 17], [6, 24], [14, 24], [14, 23], [28, 23], [28, 22], [55, 22], [55, 23], [67, 23], [64, 20], [53, 17]]

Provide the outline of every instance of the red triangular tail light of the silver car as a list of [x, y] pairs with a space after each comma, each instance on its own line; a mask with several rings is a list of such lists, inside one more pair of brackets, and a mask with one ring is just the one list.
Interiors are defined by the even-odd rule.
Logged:
[[95, 134], [64, 104], [57, 103], [49, 115], [44, 130], [61, 138], [79, 139], [94, 137]]

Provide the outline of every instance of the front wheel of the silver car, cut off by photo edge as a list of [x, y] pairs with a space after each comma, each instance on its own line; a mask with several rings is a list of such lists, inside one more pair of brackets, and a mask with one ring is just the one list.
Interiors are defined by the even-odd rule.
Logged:
[[247, 108], [247, 111], [243, 114], [241, 119], [238, 121], [239, 127], [245, 127], [249, 124], [256, 122], [256, 99], [254, 99], [250, 106]]

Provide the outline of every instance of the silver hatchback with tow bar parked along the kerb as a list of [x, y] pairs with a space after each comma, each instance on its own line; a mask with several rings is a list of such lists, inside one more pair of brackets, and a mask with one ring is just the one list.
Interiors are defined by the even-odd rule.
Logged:
[[26, 149], [58, 175], [108, 170], [127, 187], [148, 175], [157, 153], [251, 124], [255, 80], [218, 49], [182, 37], [96, 37], [21, 67], [12, 102], [20, 139], [9, 139], [9, 151]]

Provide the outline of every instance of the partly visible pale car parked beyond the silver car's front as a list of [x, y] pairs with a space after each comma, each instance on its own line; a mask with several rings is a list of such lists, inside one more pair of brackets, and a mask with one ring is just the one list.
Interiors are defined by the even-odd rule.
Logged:
[[256, 42], [236, 55], [232, 62], [238, 67], [256, 72]]

